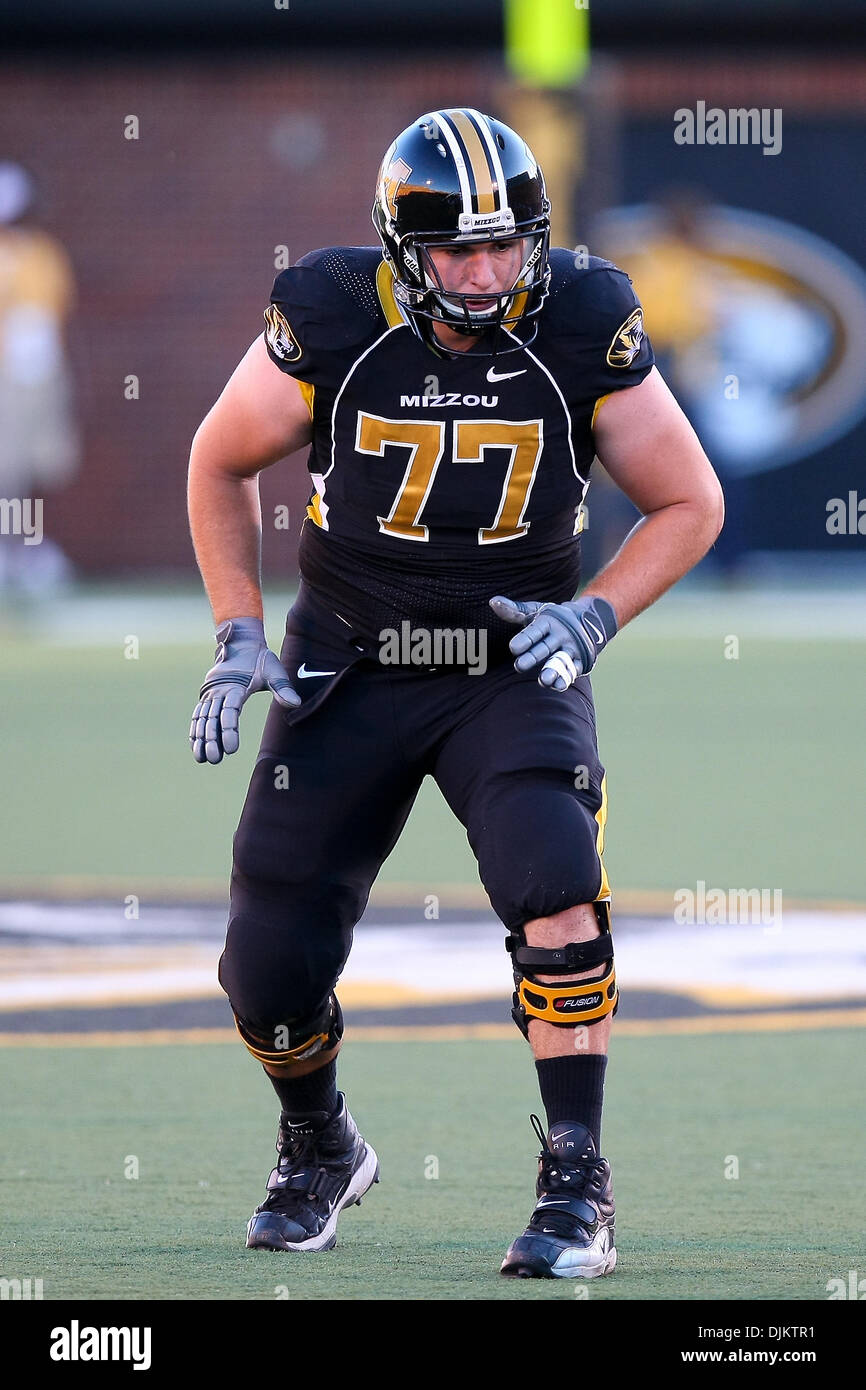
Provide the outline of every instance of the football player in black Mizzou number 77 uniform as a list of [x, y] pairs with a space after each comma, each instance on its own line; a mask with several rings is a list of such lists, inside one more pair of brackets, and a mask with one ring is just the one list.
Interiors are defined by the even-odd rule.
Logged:
[[[537, 1205], [502, 1273], [595, 1277], [616, 1264], [601, 1113], [617, 987], [588, 677], [713, 543], [721, 491], [628, 277], [549, 247], [542, 172], [507, 125], [420, 117], [385, 154], [373, 220], [381, 247], [317, 250], [277, 277], [190, 457], [218, 644], [195, 758], [234, 753], [245, 701], [272, 695], [220, 962], [281, 1105], [247, 1245], [328, 1250], [378, 1180], [336, 1090], [335, 987], [430, 773], [507, 929], [546, 1112]], [[302, 446], [311, 493], [278, 659], [257, 474]], [[642, 520], [574, 598], [596, 455]]]

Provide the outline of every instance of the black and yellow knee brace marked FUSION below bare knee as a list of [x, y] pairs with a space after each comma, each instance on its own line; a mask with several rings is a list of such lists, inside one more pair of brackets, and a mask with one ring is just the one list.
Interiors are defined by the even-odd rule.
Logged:
[[[580, 1023], [599, 1023], [616, 1013], [620, 997], [613, 969], [613, 937], [610, 935], [610, 903], [594, 902], [599, 935], [591, 941], [570, 941], [564, 947], [528, 947], [523, 930], [505, 938], [506, 951], [514, 966], [514, 1006], [512, 1017], [530, 1036], [530, 1019], [544, 1019], [560, 1029], [574, 1029]], [[591, 980], [571, 980], [563, 984], [541, 984], [537, 973], [574, 974], [602, 966], [602, 973]], [[527, 983], [528, 981], [528, 983]]]

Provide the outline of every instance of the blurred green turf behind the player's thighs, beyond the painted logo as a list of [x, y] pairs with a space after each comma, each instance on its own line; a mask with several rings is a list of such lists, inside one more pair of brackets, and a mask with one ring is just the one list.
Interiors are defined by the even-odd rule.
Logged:
[[[659, 635], [652, 610], [594, 673], [614, 890], [703, 878], [781, 887], [788, 901], [866, 901], [862, 645], [744, 635], [728, 660], [737, 627], [706, 628]], [[15, 794], [3, 806], [3, 885], [68, 876], [120, 894], [190, 881], [225, 891], [267, 698], [246, 706], [239, 753], [200, 767], [186, 734], [211, 660], [207, 617], [197, 641], [143, 639], [138, 660], [124, 659], [125, 631], [110, 646], [6, 638], [3, 760]], [[478, 887], [430, 780], [379, 883], [445, 903], [449, 888]]]

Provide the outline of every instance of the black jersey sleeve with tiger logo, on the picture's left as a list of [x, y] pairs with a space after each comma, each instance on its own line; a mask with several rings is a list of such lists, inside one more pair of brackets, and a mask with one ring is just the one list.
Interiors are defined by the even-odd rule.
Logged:
[[264, 310], [264, 342], [272, 363], [314, 386], [334, 381], [339, 363], [370, 336], [370, 320], [322, 268], [327, 252], [310, 252], [274, 281]]

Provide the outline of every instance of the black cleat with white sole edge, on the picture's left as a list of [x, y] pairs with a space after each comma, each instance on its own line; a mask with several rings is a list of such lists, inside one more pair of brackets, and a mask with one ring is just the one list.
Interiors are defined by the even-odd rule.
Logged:
[[293, 1125], [279, 1116], [277, 1168], [268, 1195], [253, 1212], [246, 1244], [250, 1250], [332, 1250], [336, 1218], [343, 1207], [360, 1207], [379, 1180], [379, 1163], [364, 1143], [339, 1093], [339, 1105]]

